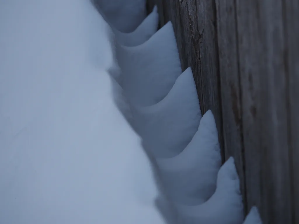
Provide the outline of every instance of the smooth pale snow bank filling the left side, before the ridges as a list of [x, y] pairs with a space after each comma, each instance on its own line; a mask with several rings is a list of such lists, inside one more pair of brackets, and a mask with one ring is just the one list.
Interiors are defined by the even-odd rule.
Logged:
[[88, 1], [0, 6], [0, 223], [164, 223]]

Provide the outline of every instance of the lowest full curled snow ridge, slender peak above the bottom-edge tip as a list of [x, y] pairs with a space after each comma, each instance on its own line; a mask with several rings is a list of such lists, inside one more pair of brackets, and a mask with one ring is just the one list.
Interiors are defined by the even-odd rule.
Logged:
[[217, 188], [205, 203], [195, 206], [177, 204], [182, 223], [240, 224], [243, 221], [242, 196], [234, 159], [228, 159], [219, 170]]

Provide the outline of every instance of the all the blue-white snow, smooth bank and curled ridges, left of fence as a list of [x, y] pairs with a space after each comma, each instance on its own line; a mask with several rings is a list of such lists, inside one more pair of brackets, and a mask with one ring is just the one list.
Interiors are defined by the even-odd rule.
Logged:
[[242, 223], [172, 23], [94, 3], [105, 20], [89, 0], [0, 1], [0, 223]]

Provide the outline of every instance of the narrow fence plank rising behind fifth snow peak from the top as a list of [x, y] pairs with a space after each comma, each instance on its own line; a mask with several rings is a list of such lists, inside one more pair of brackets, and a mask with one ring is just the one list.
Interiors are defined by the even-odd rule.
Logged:
[[[242, 108], [240, 104], [237, 21], [234, 0], [216, 0], [219, 71], [225, 159], [233, 156], [247, 214]], [[250, 170], [249, 170], [250, 173]]]

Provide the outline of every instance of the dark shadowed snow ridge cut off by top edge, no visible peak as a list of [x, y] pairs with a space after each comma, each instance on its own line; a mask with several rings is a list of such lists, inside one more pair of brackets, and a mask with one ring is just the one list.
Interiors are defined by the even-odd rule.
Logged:
[[147, 15], [146, 0], [92, 0], [113, 27], [133, 32]]

